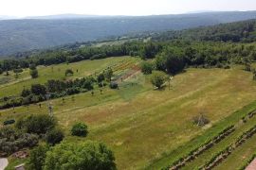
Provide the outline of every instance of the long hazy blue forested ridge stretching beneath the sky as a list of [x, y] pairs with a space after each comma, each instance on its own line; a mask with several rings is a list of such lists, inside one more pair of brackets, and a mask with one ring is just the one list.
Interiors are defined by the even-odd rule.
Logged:
[[[86, 16], [86, 15], [85, 15]], [[144, 31], [181, 30], [256, 18], [256, 11], [154, 16], [47, 16], [0, 21], [0, 56]]]

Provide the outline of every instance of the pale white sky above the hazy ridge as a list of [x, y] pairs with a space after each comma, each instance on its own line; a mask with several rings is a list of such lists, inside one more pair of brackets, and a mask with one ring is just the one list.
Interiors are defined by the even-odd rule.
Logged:
[[0, 0], [0, 15], [17, 17], [63, 13], [137, 16], [202, 10], [256, 10], [256, 2], [255, 0]]

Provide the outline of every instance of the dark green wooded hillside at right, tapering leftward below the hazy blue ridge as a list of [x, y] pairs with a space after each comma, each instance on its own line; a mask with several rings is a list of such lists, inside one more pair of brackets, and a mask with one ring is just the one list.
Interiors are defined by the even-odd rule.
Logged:
[[211, 42], [256, 42], [256, 19], [185, 30], [155, 32], [143, 36], [152, 37], [155, 41], [179, 39]]

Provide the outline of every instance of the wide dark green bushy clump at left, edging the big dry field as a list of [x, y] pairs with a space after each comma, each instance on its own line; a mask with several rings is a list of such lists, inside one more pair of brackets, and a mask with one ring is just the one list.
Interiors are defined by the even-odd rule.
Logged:
[[20, 118], [16, 127], [25, 130], [27, 133], [35, 133], [38, 135], [46, 134], [46, 132], [56, 126], [56, 120], [48, 114], [29, 115]]

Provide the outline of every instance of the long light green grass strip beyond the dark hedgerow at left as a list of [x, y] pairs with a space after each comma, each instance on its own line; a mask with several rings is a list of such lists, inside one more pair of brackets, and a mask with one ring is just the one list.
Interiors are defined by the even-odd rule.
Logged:
[[[101, 60], [83, 60], [76, 63], [69, 64], [58, 64], [51, 66], [39, 66], [38, 72], [39, 77], [32, 79], [29, 75], [29, 69], [25, 69], [18, 78], [15, 78], [13, 72], [9, 72], [9, 76], [0, 76], [0, 96], [4, 95], [15, 95], [20, 93], [23, 88], [29, 88], [31, 84], [41, 83], [44, 84], [48, 79], [64, 79], [64, 78], [76, 78], [82, 76], [89, 76], [95, 74], [96, 72], [101, 72], [103, 69], [106, 69], [108, 66], [118, 64], [119, 62], [125, 61], [125, 57], [119, 58], [108, 58]], [[135, 58], [130, 58], [130, 60], [137, 60]], [[66, 69], [72, 69], [74, 76], [64, 76]], [[78, 72], [77, 72], [78, 70]], [[2, 82], [2, 83], [1, 83]]]

